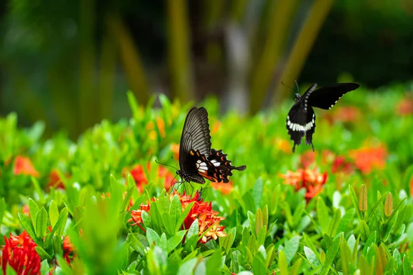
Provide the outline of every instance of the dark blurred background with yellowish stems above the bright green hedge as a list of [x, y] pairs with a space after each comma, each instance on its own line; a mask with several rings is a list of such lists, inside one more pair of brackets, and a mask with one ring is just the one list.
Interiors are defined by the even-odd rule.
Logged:
[[129, 117], [128, 89], [253, 114], [295, 79], [409, 83], [412, 27], [412, 0], [3, 0], [0, 115], [76, 138]]

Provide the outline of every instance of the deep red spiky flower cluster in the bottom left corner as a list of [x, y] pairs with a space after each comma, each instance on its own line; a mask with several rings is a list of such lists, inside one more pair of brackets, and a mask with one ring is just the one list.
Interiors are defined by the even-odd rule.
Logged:
[[4, 236], [5, 245], [1, 256], [1, 267], [6, 274], [7, 265], [10, 265], [17, 274], [40, 274], [40, 256], [37, 254], [36, 243], [28, 232], [23, 231], [19, 236], [10, 233], [9, 239]]

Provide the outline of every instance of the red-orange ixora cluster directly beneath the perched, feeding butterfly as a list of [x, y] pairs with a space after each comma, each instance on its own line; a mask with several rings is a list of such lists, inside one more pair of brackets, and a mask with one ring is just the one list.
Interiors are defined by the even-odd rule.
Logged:
[[[207, 241], [211, 239], [217, 239], [218, 236], [226, 236], [224, 233], [224, 226], [220, 226], [220, 221], [225, 219], [224, 217], [219, 217], [218, 212], [212, 210], [212, 203], [207, 201], [202, 201], [200, 193], [197, 191], [195, 196], [191, 197], [189, 195], [185, 195], [183, 192], [180, 195], [179, 192], [173, 190], [170, 195], [170, 199], [173, 198], [174, 195], [178, 195], [180, 199], [180, 203], [182, 204], [182, 210], [189, 207], [189, 204], [193, 202], [193, 206], [187, 217], [184, 219], [183, 228], [182, 229], [189, 229], [193, 221], [198, 219], [199, 223], [199, 235], [202, 236], [200, 239], [200, 243], [207, 243]], [[156, 201], [158, 199], [152, 199], [152, 201]], [[150, 213], [151, 207], [149, 204], [141, 204], [140, 209], [138, 210], [131, 210], [131, 219], [128, 222], [133, 222], [131, 225], [138, 225], [140, 229], [145, 231], [144, 228], [140, 225], [142, 223], [142, 211]]]

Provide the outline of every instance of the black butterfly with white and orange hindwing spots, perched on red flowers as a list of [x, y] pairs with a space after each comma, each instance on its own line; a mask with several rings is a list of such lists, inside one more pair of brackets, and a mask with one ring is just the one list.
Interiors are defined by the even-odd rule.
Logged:
[[185, 120], [179, 148], [180, 170], [176, 173], [183, 181], [204, 184], [205, 179], [229, 182], [232, 170], [245, 170], [246, 166], [232, 166], [222, 150], [211, 149], [208, 112], [204, 107], [193, 107]]

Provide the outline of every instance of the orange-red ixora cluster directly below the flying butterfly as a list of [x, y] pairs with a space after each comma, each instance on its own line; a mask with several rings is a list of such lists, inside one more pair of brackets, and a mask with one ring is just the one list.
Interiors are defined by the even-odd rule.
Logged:
[[327, 173], [320, 174], [316, 167], [313, 170], [298, 169], [296, 172], [288, 171], [285, 175], [280, 175], [280, 177], [285, 179], [285, 184], [294, 186], [295, 190], [305, 188], [307, 202], [321, 192], [327, 181]]

